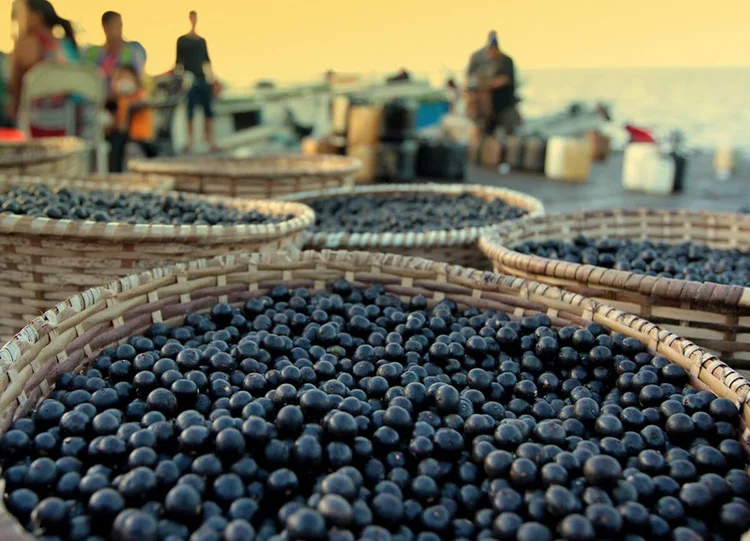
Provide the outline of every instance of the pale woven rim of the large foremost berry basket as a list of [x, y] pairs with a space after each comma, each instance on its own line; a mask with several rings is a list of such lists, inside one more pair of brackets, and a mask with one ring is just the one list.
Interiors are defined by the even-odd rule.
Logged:
[[[316, 270], [336, 270], [346, 273], [352, 264], [357, 268], [406, 270], [418, 281], [425, 273], [441, 283], [457, 283], [473, 290], [472, 298], [481, 299], [482, 292], [502, 293], [510, 292], [525, 301], [540, 302], [548, 309], [555, 311], [572, 311], [584, 314], [586, 319], [601, 323], [611, 331], [632, 332], [640, 336], [639, 340], [653, 353], [667, 356], [670, 360], [679, 356], [689, 363], [689, 372], [700, 381], [703, 377], [714, 378], [724, 390], [729, 391], [738, 406], [750, 410], [750, 382], [741, 374], [721, 361], [716, 355], [697, 346], [690, 340], [663, 329], [638, 316], [628, 314], [594, 299], [577, 293], [571, 293], [554, 286], [516, 278], [513, 276], [480, 271], [458, 265], [440, 263], [420, 257], [402, 256], [376, 252], [358, 252], [343, 250], [323, 250], [305, 252], [275, 252], [230, 254], [210, 259], [197, 259], [186, 263], [176, 263], [149, 271], [131, 274], [129, 276], [110, 281], [106, 285], [88, 289], [82, 293], [67, 298], [35, 318], [23, 327], [10, 341], [0, 348], [0, 374], [13, 369], [13, 363], [30, 351], [38, 350], [46, 336], [57, 336], [57, 328], [66, 320], [79, 325], [81, 314], [94, 305], [105, 301], [107, 306], [116, 303], [118, 296], [123, 296], [122, 302], [130, 302], [133, 296], [142, 297], [149, 284], [167, 286], [179, 283], [189, 278], [221, 277], [215, 271], [223, 273], [226, 283], [227, 274], [231, 272], [255, 272], [258, 278], [248, 280], [248, 283], [262, 282], [263, 268], [286, 271], [293, 269], [295, 264], [312, 263]], [[283, 282], [287, 278], [280, 281]], [[314, 278], [317, 279], [317, 278]], [[328, 280], [328, 278], [319, 278]], [[436, 282], [432, 282], [436, 283]], [[212, 281], [206, 281], [206, 288], [213, 287]], [[316, 288], [319, 288], [316, 282]], [[48, 345], [47, 347], [52, 347]], [[717, 375], [718, 372], [718, 375]], [[747, 412], [750, 416], [750, 411]]]

